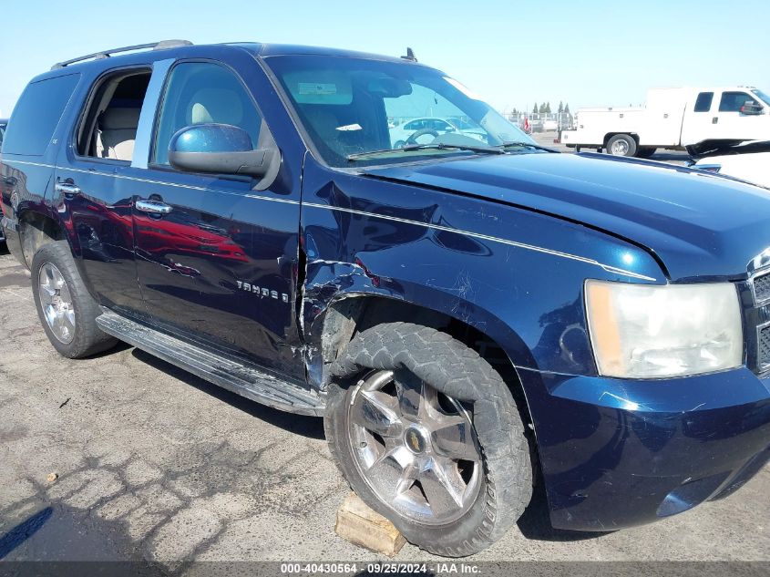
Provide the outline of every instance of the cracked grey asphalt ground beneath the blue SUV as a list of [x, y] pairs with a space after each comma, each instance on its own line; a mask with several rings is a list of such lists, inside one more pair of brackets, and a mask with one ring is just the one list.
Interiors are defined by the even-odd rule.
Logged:
[[[334, 534], [347, 495], [322, 421], [262, 407], [127, 345], [56, 354], [29, 274], [0, 249], [0, 559], [368, 561]], [[47, 480], [50, 473], [58, 478]], [[770, 469], [726, 500], [654, 525], [518, 527], [466, 561], [770, 561]], [[397, 561], [436, 560], [407, 544]]]

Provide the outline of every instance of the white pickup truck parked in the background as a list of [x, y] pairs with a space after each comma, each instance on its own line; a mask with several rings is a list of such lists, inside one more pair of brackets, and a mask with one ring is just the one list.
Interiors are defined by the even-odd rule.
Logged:
[[752, 87], [651, 88], [642, 108], [580, 108], [568, 147], [649, 158], [714, 142], [770, 139], [770, 97]]

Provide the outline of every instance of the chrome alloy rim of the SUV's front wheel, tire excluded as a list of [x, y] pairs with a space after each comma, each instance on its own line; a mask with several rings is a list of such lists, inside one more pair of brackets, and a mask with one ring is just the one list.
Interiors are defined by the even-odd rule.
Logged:
[[483, 463], [470, 415], [420, 382], [377, 371], [348, 405], [355, 467], [375, 495], [426, 525], [459, 519], [477, 499]]

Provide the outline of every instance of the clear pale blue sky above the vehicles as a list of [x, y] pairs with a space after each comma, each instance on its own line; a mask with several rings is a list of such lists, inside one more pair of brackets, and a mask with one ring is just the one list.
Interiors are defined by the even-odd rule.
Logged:
[[724, 0], [5, 0], [0, 114], [58, 60], [164, 38], [416, 57], [500, 110], [641, 104], [657, 86], [770, 91], [770, 2]]

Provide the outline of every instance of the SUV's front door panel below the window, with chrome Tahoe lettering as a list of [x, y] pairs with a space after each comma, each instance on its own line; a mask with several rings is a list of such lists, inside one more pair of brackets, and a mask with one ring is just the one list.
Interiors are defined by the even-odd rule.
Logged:
[[153, 321], [279, 368], [274, 359], [294, 332], [299, 204], [252, 193], [250, 183], [143, 172], [149, 179], [118, 179], [118, 188], [171, 207], [164, 215], [136, 205], [133, 212]]

